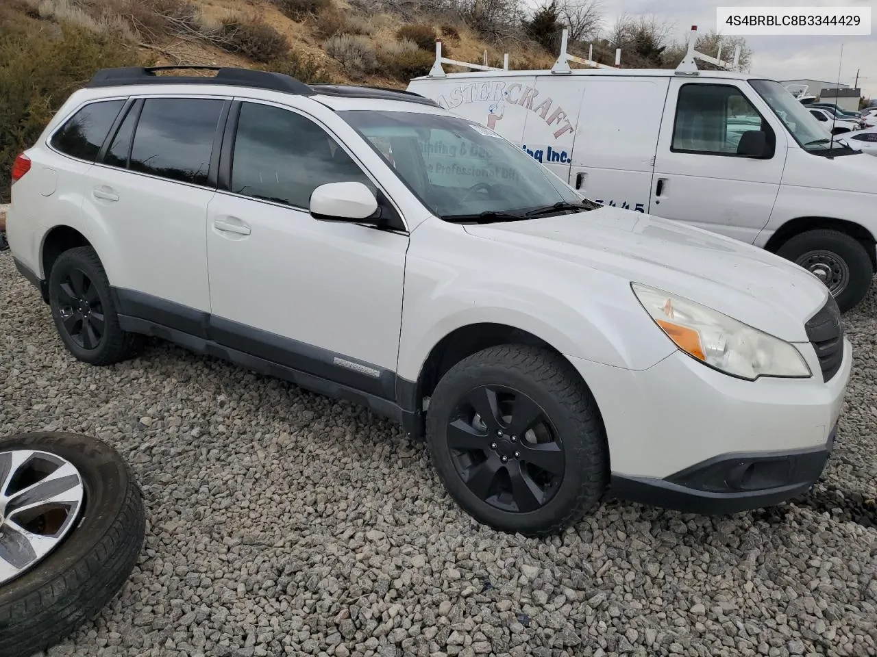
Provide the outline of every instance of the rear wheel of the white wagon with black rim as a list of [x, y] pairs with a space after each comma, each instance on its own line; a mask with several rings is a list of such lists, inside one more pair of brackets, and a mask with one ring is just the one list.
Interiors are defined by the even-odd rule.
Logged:
[[110, 282], [90, 246], [61, 253], [52, 266], [48, 287], [55, 328], [78, 360], [109, 365], [137, 353], [143, 337], [119, 328]]

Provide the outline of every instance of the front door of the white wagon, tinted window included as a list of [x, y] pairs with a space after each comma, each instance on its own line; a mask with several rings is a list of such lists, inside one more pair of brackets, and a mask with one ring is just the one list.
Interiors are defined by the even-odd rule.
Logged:
[[392, 398], [408, 236], [310, 215], [315, 187], [349, 180], [376, 189], [310, 117], [241, 103], [231, 188], [207, 212], [210, 333], [232, 349]]

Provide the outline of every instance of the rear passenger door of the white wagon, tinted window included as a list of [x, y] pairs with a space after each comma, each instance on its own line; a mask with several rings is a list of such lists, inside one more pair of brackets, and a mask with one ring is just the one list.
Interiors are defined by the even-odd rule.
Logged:
[[82, 212], [103, 233], [99, 241], [112, 245], [100, 256], [122, 314], [192, 333], [210, 311], [207, 204], [216, 194], [214, 142], [228, 104], [141, 99], [84, 174]]

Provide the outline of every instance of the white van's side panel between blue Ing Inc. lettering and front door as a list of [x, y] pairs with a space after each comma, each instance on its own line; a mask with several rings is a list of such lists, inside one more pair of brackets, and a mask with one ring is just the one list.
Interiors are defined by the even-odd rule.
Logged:
[[665, 77], [588, 78], [570, 175], [570, 184], [582, 195], [617, 208], [649, 211], [668, 84]]

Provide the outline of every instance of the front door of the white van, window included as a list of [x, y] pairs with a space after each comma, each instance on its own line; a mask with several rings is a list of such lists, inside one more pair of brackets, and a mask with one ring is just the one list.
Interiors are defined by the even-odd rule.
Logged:
[[[747, 97], [744, 85], [734, 80], [671, 81], [655, 157], [651, 212], [752, 244], [774, 208], [786, 138], [779, 124]], [[738, 154], [747, 131], [765, 131], [766, 157]]]

